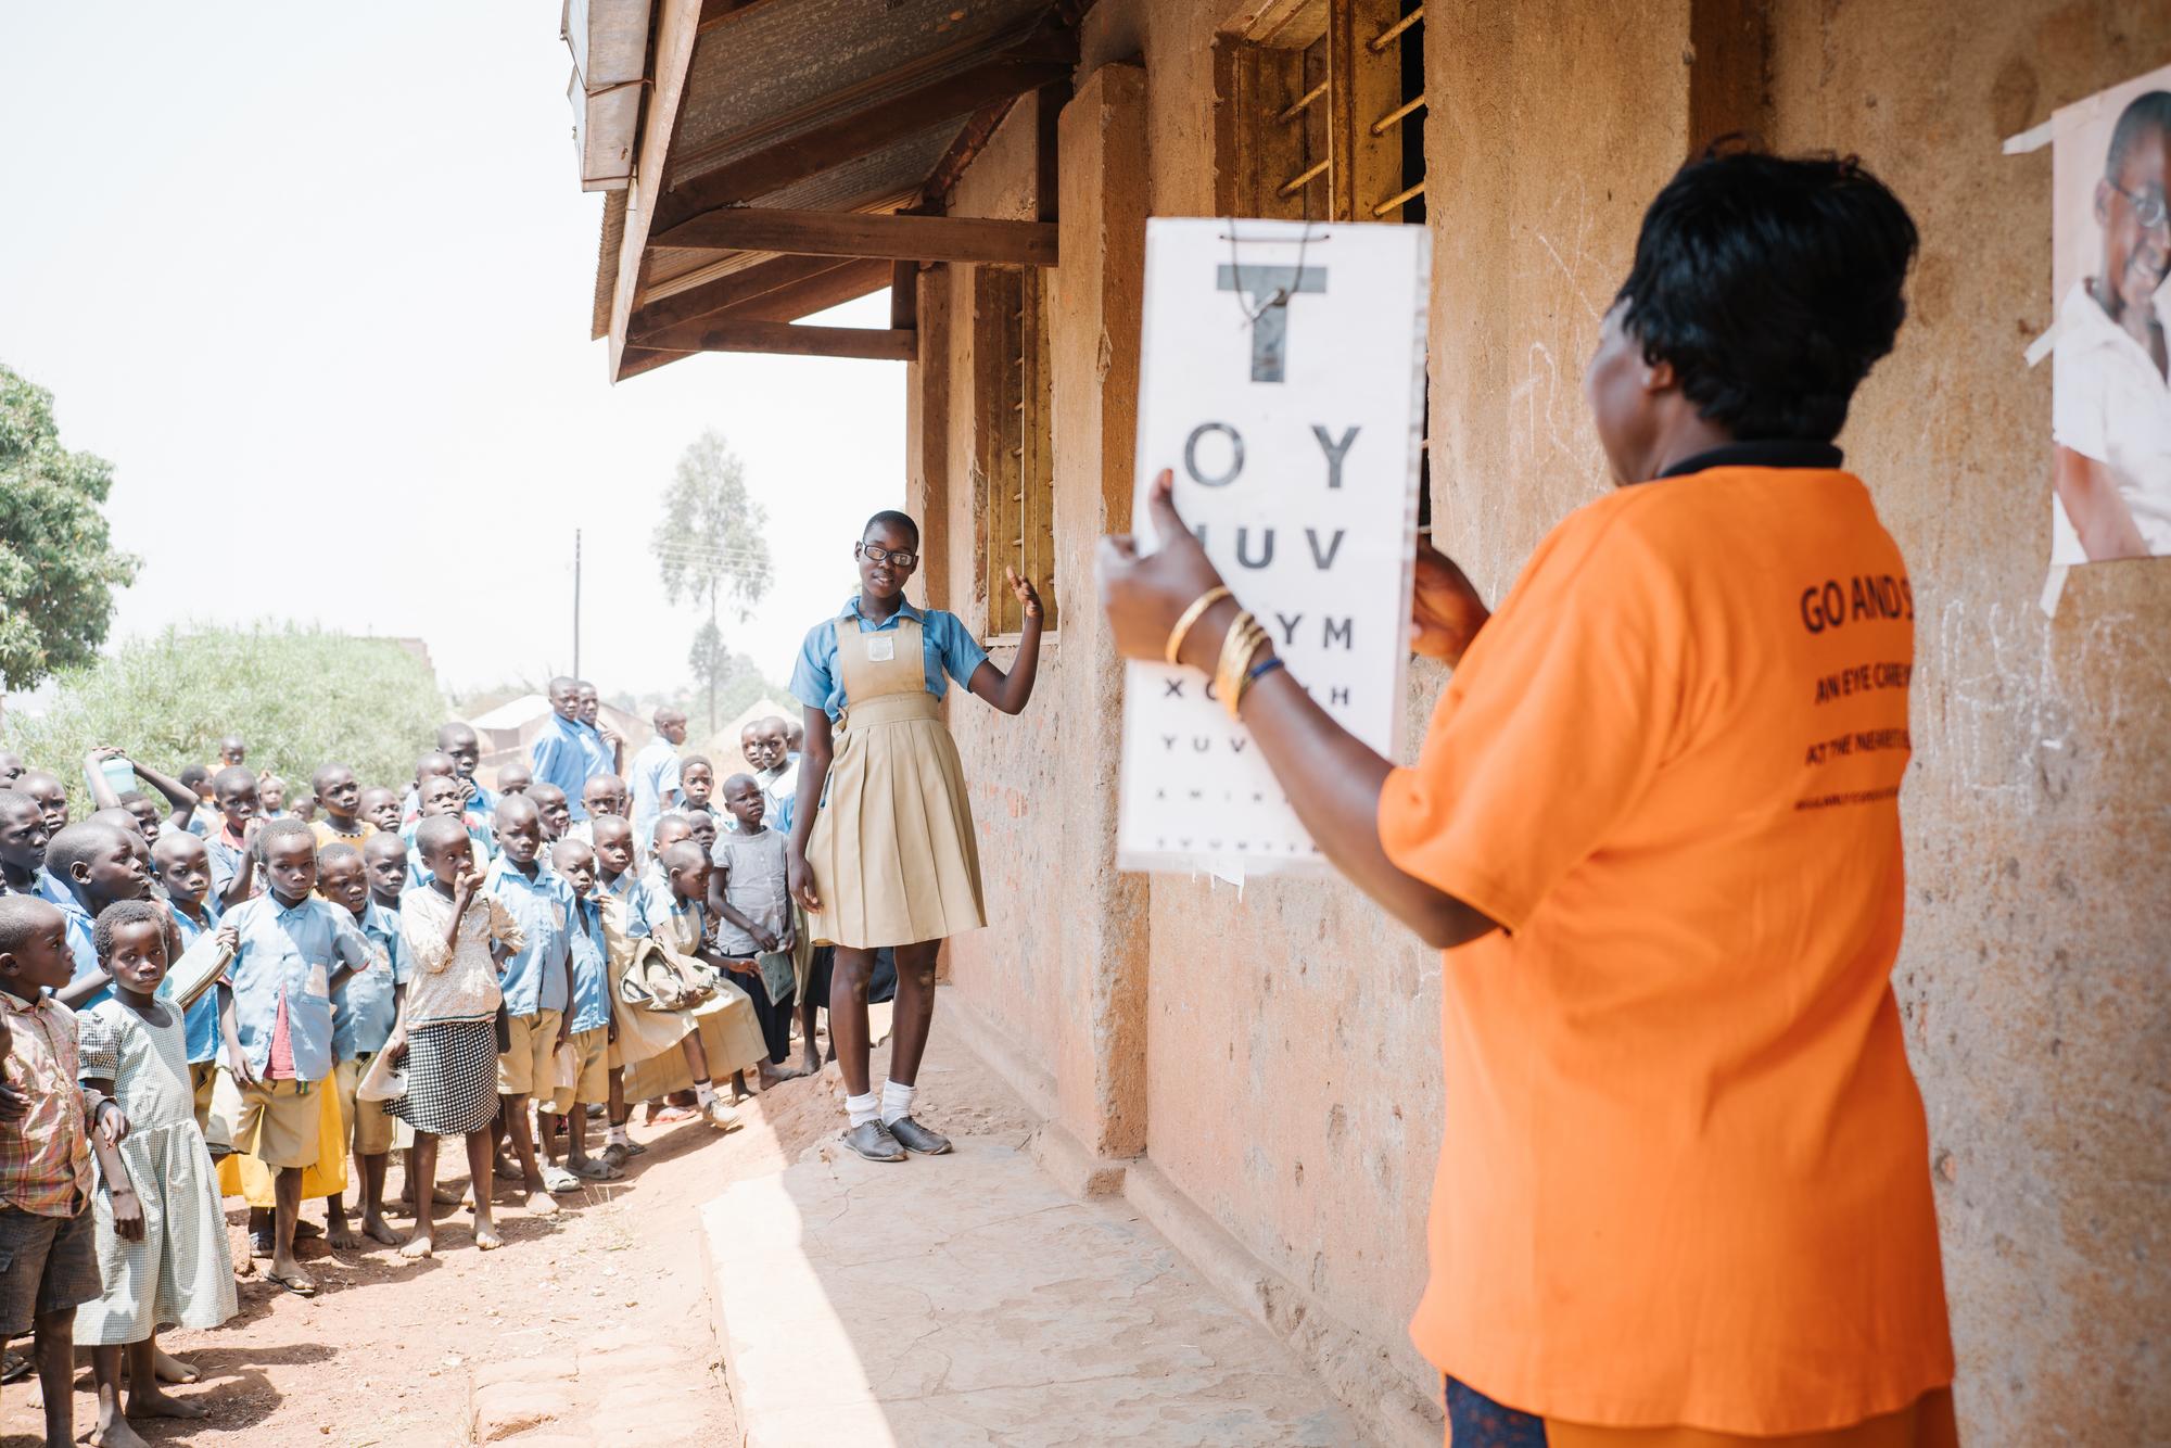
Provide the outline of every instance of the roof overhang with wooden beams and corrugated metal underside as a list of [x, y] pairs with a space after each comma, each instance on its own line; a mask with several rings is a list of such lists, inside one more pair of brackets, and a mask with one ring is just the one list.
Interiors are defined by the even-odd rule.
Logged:
[[[612, 4], [649, 0], [567, 13]], [[1053, 195], [1014, 221], [947, 215], [949, 191], [1020, 96], [1068, 89], [1088, 7], [653, 0], [597, 256], [612, 380], [721, 350], [910, 360], [921, 263], [1055, 265]], [[892, 282], [886, 330], [792, 326]]]

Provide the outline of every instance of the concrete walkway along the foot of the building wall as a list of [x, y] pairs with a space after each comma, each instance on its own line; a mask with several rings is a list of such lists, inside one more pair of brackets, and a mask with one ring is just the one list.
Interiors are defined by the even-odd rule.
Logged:
[[701, 1211], [745, 1444], [1361, 1441], [1120, 1198], [1064, 1194], [940, 1027], [921, 1085], [927, 1120], [979, 1127], [953, 1155], [829, 1142]]

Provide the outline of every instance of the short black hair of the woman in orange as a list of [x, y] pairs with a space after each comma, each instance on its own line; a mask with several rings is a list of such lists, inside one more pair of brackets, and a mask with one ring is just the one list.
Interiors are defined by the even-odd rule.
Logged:
[[1722, 145], [1643, 213], [1622, 321], [1706, 421], [1828, 443], [1906, 317], [1915, 221], [1852, 156]]

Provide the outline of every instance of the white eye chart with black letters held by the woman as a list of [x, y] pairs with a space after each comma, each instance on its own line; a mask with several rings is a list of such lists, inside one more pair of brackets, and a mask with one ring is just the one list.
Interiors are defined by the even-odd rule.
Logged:
[[[1394, 758], [1424, 434], [1422, 226], [1146, 224], [1140, 547], [1161, 469], [1237, 601], [1342, 727]], [[1250, 734], [1192, 669], [1125, 671], [1116, 860], [1320, 866]]]

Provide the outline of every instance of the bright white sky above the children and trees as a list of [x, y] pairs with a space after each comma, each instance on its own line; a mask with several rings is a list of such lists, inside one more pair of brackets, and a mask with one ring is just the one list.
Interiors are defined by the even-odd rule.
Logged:
[[779, 564], [725, 638], [786, 682], [858, 521], [903, 497], [901, 363], [606, 382], [556, 4], [17, 4], [0, 56], [0, 363], [115, 465], [143, 558], [115, 638], [319, 621], [426, 638], [452, 688], [541, 682], [571, 664], [582, 528], [582, 673], [688, 684], [699, 617], [647, 538], [714, 425]]

